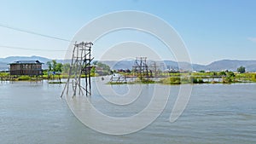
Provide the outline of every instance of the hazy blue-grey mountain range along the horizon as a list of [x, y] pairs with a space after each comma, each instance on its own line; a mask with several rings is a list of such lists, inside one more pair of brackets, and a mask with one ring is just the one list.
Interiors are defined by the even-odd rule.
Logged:
[[[17, 60], [39, 60], [44, 62], [43, 68], [46, 69], [47, 66], [45, 65], [47, 61], [51, 59], [40, 57], [40, 56], [9, 56], [6, 58], [0, 58], [0, 70], [8, 70], [9, 63], [15, 62]], [[63, 60], [56, 60], [57, 62], [63, 62]], [[102, 60], [104, 64], [107, 64], [112, 69], [131, 69], [132, 66], [135, 64], [135, 60]], [[153, 64], [152, 60], [148, 60], [148, 65], [151, 66]], [[156, 66], [158, 68], [164, 67], [165, 69], [177, 69], [178, 64], [176, 61], [173, 60], [163, 60], [163, 61], [156, 61]], [[217, 60], [209, 65], [199, 65], [199, 64], [192, 64], [190, 65], [188, 62], [179, 62], [179, 67], [183, 70], [189, 69], [192, 66], [193, 70], [195, 71], [236, 71], [239, 66], [246, 67], [247, 72], [256, 72], [256, 60]]]

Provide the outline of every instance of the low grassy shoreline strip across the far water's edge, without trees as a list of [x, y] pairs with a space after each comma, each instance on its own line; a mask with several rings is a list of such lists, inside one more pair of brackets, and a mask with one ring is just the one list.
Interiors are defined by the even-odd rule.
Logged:
[[[129, 76], [129, 73], [121, 73], [123, 76]], [[130, 74], [131, 75], [131, 74]], [[92, 75], [97, 77], [97, 75]], [[37, 77], [20, 76], [10, 78], [9, 73], [0, 72], [0, 81], [37, 81], [37, 80], [52, 80], [49, 84], [64, 84], [62, 78], [68, 78], [67, 74], [61, 75], [42, 75]], [[82, 75], [81, 78], [85, 78]], [[218, 80], [217, 80], [218, 79]], [[56, 80], [59, 80], [56, 82]], [[158, 81], [152, 79], [142, 81], [136, 79], [129, 82], [108, 82], [107, 84], [241, 84], [241, 83], [256, 83], [256, 73], [234, 73], [234, 72], [184, 72], [184, 73], [169, 73], [168, 75], [160, 75]]]

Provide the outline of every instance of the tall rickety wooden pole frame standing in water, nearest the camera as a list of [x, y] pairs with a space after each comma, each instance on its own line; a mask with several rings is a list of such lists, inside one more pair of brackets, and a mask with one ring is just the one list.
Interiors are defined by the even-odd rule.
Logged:
[[[61, 93], [61, 97], [64, 95], [64, 92], [67, 92], [69, 84], [72, 79], [72, 89], [73, 89], [73, 96], [77, 95], [91, 95], [91, 84], [90, 84], [90, 70], [92, 66], [90, 66], [91, 60], [91, 46], [93, 43], [89, 42], [82, 42], [82, 43], [75, 43], [73, 47], [73, 55], [71, 60], [71, 65], [69, 68], [69, 75], [67, 78], [67, 83]], [[81, 82], [81, 75], [84, 75], [85, 82], [84, 85]]]

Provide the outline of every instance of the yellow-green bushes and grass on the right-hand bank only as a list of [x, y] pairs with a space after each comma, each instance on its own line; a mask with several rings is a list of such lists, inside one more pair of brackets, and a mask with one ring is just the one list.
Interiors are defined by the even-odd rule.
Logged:
[[[116, 71], [115, 71], [116, 72]], [[115, 73], [114, 72], [114, 73]], [[127, 78], [137, 77], [134, 71], [125, 72], [124, 70], [118, 71], [122, 76]], [[153, 76], [154, 73], [153, 73]], [[150, 83], [160, 84], [233, 84], [233, 83], [254, 83], [256, 82], [256, 73], [245, 72], [245, 67], [240, 66], [237, 72], [223, 71], [223, 72], [158, 72], [156, 74], [158, 80]], [[143, 77], [144, 78], [144, 77]], [[112, 82], [113, 84], [119, 84]], [[137, 81], [135, 82], [137, 83]], [[141, 82], [142, 83], [142, 82]], [[125, 83], [124, 83], [125, 84]], [[129, 83], [128, 83], [129, 84]], [[132, 83], [134, 84], [134, 83]], [[146, 82], [147, 84], [147, 82]]]

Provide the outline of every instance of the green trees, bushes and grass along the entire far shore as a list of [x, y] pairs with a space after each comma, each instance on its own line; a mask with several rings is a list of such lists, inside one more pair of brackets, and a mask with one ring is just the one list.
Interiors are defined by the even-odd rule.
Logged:
[[[58, 79], [58, 81], [49, 82], [49, 84], [62, 84], [61, 78], [68, 78], [70, 64], [57, 63], [55, 60], [47, 62], [48, 69], [43, 71], [42, 77], [30, 77], [30, 76], [15, 76], [11, 78], [9, 72], [0, 72], [0, 80], [17, 80], [28, 81], [36, 79]], [[90, 69], [90, 76], [97, 77], [102, 75], [108, 75], [111, 73], [119, 73], [126, 78], [134, 78], [137, 76], [137, 72], [130, 70], [118, 70], [110, 71], [110, 67], [99, 61], [94, 61], [93, 66]], [[154, 74], [153, 74], [154, 76]], [[73, 78], [74, 75], [71, 76]], [[82, 74], [81, 78], [85, 78]], [[256, 73], [245, 72], [245, 67], [240, 66], [237, 68], [237, 72], [158, 72], [158, 80], [151, 78], [143, 78], [142, 80], [137, 77], [132, 82], [109, 82], [108, 84], [233, 84], [233, 83], [256, 83]]]

